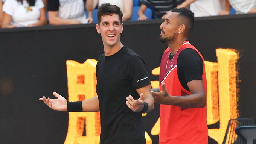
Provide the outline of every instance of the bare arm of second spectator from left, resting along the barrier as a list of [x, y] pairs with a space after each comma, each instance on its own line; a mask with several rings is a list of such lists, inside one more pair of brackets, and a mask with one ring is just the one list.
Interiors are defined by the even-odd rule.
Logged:
[[81, 24], [78, 20], [63, 19], [58, 17], [58, 11], [48, 11], [49, 23], [52, 25]]

